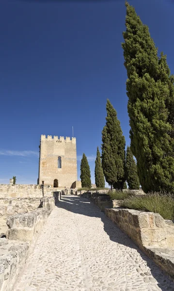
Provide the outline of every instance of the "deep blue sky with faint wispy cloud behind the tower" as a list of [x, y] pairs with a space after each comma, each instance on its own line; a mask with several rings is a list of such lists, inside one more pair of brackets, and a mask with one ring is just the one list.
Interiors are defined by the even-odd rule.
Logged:
[[[129, 145], [124, 0], [0, 0], [0, 183], [36, 184], [40, 135], [77, 138], [92, 182], [106, 99]], [[174, 1], [130, 0], [174, 73]]]

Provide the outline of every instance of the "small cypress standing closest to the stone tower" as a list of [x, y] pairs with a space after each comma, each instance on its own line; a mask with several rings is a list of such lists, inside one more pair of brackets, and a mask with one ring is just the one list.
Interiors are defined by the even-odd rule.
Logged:
[[80, 179], [81, 187], [91, 188], [91, 172], [88, 160], [84, 153], [80, 164]]

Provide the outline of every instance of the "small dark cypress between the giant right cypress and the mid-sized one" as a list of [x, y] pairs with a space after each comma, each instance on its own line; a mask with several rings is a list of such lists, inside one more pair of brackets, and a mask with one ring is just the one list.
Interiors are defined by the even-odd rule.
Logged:
[[137, 174], [137, 165], [129, 146], [127, 146], [126, 155], [126, 176], [129, 189], [140, 189], [140, 181]]

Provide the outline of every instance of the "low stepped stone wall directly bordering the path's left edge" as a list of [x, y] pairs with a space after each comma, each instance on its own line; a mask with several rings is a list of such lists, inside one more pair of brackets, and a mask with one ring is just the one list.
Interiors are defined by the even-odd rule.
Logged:
[[54, 197], [42, 198], [43, 208], [7, 218], [7, 239], [0, 239], [0, 291], [13, 291], [48, 215], [59, 201], [59, 195], [60, 192], [55, 192]]

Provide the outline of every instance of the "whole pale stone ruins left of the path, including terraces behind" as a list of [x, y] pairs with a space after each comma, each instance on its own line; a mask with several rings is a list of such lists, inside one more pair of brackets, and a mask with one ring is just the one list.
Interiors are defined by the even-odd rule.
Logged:
[[12, 291], [61, 192], [49, 185], [0, 185], [0, 291]]

